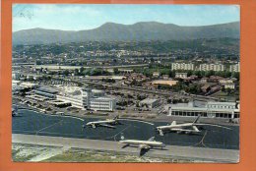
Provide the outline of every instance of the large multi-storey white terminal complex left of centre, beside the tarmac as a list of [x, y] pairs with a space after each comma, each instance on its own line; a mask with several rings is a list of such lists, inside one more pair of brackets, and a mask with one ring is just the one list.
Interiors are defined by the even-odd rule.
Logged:
[[28, 98], [37, 101], [45, 101], [49, 104], [71, 104], [81, 109], [95, 111], [113, 111], [116, 106], [115, 98], [106, 96], [103, 90], [81, 88], [79, 86], [58, 86], [54, 88], [38, 87], [27, 95]]

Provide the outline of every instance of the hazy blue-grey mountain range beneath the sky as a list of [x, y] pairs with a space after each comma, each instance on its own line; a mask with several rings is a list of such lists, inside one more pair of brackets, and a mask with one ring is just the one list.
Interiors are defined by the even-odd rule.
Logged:
[[186, 40], [200, 38], [239, 38], [240, 23], [201, 27], [181, 27], [157, 22], [134, 25], [106, 23], [87, 30], [32, 28], [13, 32], [13, 44], [48, 44], [86, 41]]

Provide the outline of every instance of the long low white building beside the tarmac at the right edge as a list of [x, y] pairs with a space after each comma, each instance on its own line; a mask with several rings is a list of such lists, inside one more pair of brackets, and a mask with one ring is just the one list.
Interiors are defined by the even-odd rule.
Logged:
[[194, 102], [178, 103], [171, 105], [169, 116], [206, 118], [239, 118], [239, 103], [236, 102], [207, 102], [205, 105], [196, 106]]

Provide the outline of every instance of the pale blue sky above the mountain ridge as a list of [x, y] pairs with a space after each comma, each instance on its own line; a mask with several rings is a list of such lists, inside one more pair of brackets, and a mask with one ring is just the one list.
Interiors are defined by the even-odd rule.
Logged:
[[208, 26], [237, 21], [240, 21], [237, 5], [13, 5], [13, 31], [29, 28], [92, 29], [107, 22]]

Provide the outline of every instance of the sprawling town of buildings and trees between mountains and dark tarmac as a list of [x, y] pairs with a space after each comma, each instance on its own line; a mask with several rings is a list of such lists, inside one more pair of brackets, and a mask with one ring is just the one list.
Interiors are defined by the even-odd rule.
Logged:
[[[95, 44], [98, 42], [92, 42], [89, 47], [94, 48]], [[70, 48], [78, 50], [84, 46]], [[36, 49], [48, 50], [38, 54]], [[202, 107], [209, 106], [209, 101], [232, 106], [239, 102], [237, 54], [228, 53], [225, 60], [220, 60], [215, 53], [204, 57], [204, 51], [195, 55], [191, 50], [158, 53], [112, 49], [86, 51], [84, 56], [81, 51], [56, 52], [49, 45], [15, 46], [14, 99], [50, 113], [62, 108], [84, 114], [112, 112], [144, 118], [176, 115], [170, 108], [180, 103]], [[80, 54], [77, 58], [76, 53]], [[195, 105], [194, 101], [202, 104]], [[237, 112], [228, 112], [222, 115], [222, 112], [216, 115], [210, 112], [203, 117], [239, 118]]]

